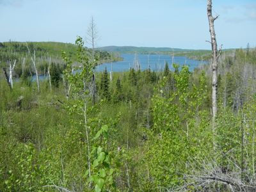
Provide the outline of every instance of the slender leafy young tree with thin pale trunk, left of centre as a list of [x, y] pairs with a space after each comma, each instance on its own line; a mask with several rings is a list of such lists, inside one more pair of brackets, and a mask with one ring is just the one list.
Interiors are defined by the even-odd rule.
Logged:
[[[72, 61], [68, 58], [66, 52], [63, 52], [63, 60], [67, 64], [67, 68], [63, 71], [68, 84], [68, 92], [70, 92], [72, 84], [72, 98], [77, 102], [72, 111], [76, 111], [78, 115], [81, 115], [81, 121], [79, 125], [83, 125], [85, 129], [86, 145], [87, 145], [87, 164], [88, 164], [88, 177], [92, 175], [92, 160], [91, 160], [91, 145], [90, 145], [90, 126], [88, 126], [88, 95], [90, 95], [90, 83], [93, 76], [92, 65], [87, 58], [87, 54], [84, 50], [84, 42], [81, 37], [77, 37], [77, 61], [82, 65], [81, 72], [74, 74], [73, 70], [78, 70], [79, 68], [72, 67]], [[78, 107], [77, 107], [78, 106]], [[83, 118], [82, 118], [83, 117]], [[92, 186], [92, 181], [89, 182], [89, 188]]]

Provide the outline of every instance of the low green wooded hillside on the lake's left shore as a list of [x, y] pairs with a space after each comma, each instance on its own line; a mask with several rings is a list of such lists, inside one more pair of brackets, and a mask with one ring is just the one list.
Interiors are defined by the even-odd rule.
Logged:
[[[28, 52], [28, 47], [31, 55]], [[88, 58], [92, 58], [92, 49], [88, 49], [87, 47], [84, 47], [84, 49]], [[62, 52], [66, 52], [66, 55], [74, 60], [74, 62], [77, 61], [77, 46], [74, 44], [61, 42], [0, 42], [0, 67], [8, 68], [9, 62], [16, 62], [13, 76], [20, 77], [24, 72], [27, 73], [27, 76], [35, 74], [35, 70], [31, 65], [31, 56], [34, 58], [34, 51], [36, 67], [39, 74], [45, 74], [49, 61], [51, 61], [52, 65], [58, 66], [62, 72], [64, 68], [64, 61], [61, 56]], [[97, 60], [97, 64], [100, 64], [121, 60], [122, 58], [118, 57], [118, 54], [108, 51], [95, 51], [95, 59]]]

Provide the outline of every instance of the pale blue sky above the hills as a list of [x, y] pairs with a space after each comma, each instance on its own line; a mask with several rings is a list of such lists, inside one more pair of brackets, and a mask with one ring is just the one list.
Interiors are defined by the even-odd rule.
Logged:
[[[207, 0], [0, 0], [0, 42], [68, 42], [95, 20], [97, 47], [211, 49]], [[256, 47], [256, 0], [212, 0], [218, 45]], [[88, 45], [90, 47], [90, 45]]]

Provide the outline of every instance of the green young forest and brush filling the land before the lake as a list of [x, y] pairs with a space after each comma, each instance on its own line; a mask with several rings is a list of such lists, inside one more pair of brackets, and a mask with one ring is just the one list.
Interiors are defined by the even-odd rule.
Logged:
[[221, 54], [212, 131], [210, 65], [109, 76], [81, 38], [37, 46], [0, 44], [0, 191], [255, 190], [256, 49]]

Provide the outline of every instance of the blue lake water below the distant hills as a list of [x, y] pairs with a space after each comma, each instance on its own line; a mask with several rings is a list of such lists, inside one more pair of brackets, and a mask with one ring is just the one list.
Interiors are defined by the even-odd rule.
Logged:
[[172, 63], [182, 65], [188, 65], [189, 70], [193, 71], [196, 67], [200, 65], [205, 65], [207, 61], [198, 61], [191, 60], [184, 56], [168, 56], [164, 54], [121, 54], [121, 57], [124, 59], [123, 61], [117, 61], [113, 63], [103, 63], [97, 66], [97, 71], [103, 71], [105, 67], [108, 71], [111, 71], [111, 66], [113, 72], [122, 72], [127, 71], [131, 67], [138, 68], [140, 66], [141, 70], [146, 70], [150, 68], [150, 70], [155, 71], [163, 71], [164, 65], [168, 62], [170, 70], [173, 70]]

